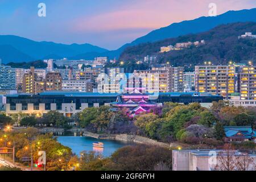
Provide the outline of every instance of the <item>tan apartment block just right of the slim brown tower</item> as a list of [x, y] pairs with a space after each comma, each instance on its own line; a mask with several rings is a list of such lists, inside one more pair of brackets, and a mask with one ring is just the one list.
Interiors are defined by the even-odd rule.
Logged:
[[46, 75], [46, 90], [61, 90], [62, 77], [58, 72], [48, 72]]

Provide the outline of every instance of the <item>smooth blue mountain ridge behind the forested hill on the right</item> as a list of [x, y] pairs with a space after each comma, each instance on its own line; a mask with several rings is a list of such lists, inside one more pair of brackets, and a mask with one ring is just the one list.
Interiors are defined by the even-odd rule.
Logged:
[[236, 22], [256, 22], [256, 8], [250, 10], [228, 11], [218, 16], [202, 16], [194, 20], [172, 23], [170, 26], [151, 31], [149, 34], [134, 40], [131, 44], [155, 42], [177, 36], [196, 34], [208, 31], [221, 24]]

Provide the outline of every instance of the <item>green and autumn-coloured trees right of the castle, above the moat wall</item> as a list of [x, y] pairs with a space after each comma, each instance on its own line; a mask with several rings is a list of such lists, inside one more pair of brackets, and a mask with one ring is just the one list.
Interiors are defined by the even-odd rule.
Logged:
[[256, 127], [254, 107], [235, 107], [228, 101], [213, 102], [207, 109], [198, 103], [181, 105], [164, 103], [162, 114], [142, 114], [135, 118], [146, 137], [163, 142], [180, 141], [188, 144], [221, 146], [224, 126]]

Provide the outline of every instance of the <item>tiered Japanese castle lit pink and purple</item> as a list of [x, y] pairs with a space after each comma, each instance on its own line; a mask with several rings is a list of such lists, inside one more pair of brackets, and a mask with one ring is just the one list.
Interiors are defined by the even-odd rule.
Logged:
[[127, 110], [130, 117], [141, 113], [150, 113], [154, 111], [158, 105], [149, 100], [149, 95], [142, 93], [142, 88], [125, 88], [125, 92], [117, 96], [117, 101], [110, 103], [113, 111]]

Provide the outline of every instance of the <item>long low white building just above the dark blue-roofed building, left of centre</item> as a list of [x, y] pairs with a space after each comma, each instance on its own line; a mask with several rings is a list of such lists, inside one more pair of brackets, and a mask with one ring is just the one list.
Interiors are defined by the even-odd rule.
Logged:
[[63, 80], [63, 91], [93, 92], [94, 82], [86, 80]]

